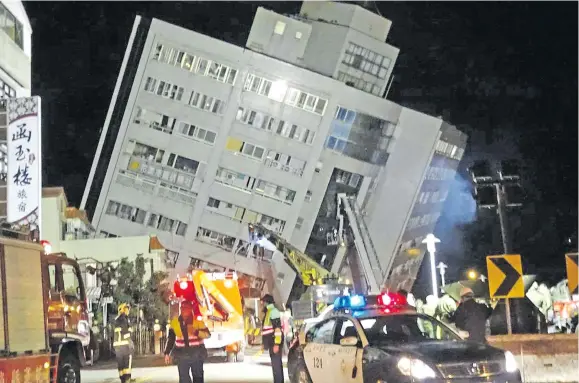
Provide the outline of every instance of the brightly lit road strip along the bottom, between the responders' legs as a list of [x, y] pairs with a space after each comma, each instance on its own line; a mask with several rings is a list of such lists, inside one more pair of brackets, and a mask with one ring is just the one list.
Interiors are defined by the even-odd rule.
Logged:
[[[286, 382], [289, 379], [286, 375]], [[177, 383], [179, 376], [176, 366], [136, 368], [133, 370], [135, 383]], [[120, 382], [116, 369], [83, 370], [82, 383]], [[205, 383], [271, 383], [271, 367], [267, 365], [244, 363], [207, 363], [205, 364]]]

